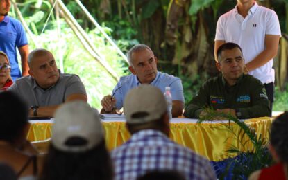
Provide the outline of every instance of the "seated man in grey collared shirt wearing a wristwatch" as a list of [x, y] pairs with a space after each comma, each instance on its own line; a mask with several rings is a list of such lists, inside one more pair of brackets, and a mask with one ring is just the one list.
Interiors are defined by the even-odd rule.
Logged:
[[78, 75], [60, 73], [51, 52], [35, 49], [28, 55], [29, 76], [18, 79], [10, 91], [28, 102], [30, 116], [53, 116], [64, 102], [87, 102], [86, 90]]

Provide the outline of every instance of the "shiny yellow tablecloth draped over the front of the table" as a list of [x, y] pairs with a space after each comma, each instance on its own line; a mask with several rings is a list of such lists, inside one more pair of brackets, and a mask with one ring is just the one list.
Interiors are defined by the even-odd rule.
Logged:
[[[251, 150], [252, 144], [247, 143], [242, 147], [237, 141], [236, 136], [228, 131], [225, 125], [228, 123], [181, 123], [181, 118], [176, 120], [176, 123], [171, 123], [170, 138], [177, 143], [189, 147], [196, 153], [201, 154], [210, 161], [221, 161], [228, 158], [226, 150], [235, 146], [240, 150]], [[269, 129], [271, 127], [272, 118], [254, 118], [245, 120], [247, 125], [254, 127], [257, 135], [262, 134], [263, 138], [269, 139]], [[28, 132], [29, 141], [41, 141], [51, 137], [52, 123], [32, 123]], [[109, 150], [121, 145], [130, 138], [130, 134], [125, 127], [124, 122], [109, 122], [103, 123], [105, 129], [105, 141]], [[240, 134], [240, 127], [232, 123], [233, 132], [236, 135]], [[244, 138], [246, 141], [248, 138]]]

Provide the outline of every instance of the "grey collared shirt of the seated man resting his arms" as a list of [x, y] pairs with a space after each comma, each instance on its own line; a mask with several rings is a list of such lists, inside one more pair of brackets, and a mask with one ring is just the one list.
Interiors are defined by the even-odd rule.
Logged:
[[29, 107], [60, 105], [72, 94], [80, 93], [86, 95], [83, 82], [78, 75], [60, 73], [60, 78], [56, 84], [49, 89], [42, 89], [29, 75], [19, 78], [8, 89], [24, 98]]

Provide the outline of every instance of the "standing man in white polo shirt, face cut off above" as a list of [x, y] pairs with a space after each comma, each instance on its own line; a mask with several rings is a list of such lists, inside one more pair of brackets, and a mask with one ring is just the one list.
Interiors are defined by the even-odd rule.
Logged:
[[214, 52], [225, 42], [239, 44], [246, 63], [246, 73], [264, 84], [271, 109], [275, 80], [273, 57], [277, 55], [280, 37], [276, 12], [258, 6], [255, 0], [237, 0], [237, 6], [221, 15], [217, 22]]

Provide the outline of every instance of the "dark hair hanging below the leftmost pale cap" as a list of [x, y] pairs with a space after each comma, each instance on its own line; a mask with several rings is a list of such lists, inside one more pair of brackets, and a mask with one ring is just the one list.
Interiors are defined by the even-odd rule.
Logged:
[[39, 179], [112, 180], [113, 175], [112, 161], [103, 139], [86, 152], [64, 152], [51, 144]]

